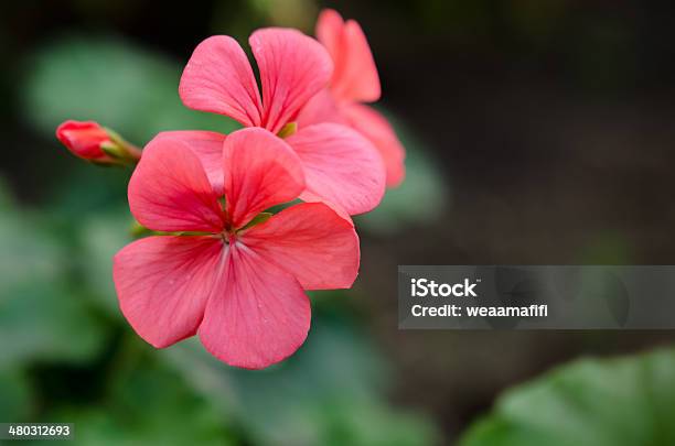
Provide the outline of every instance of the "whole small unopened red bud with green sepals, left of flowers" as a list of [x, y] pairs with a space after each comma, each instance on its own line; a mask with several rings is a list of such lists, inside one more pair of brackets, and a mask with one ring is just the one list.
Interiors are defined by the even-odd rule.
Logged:
[[65, 121], [56, 129], [56, 138], [75, 156], [93, 163], [129, 164], [140, 159], [137, 148], [95, 121]]

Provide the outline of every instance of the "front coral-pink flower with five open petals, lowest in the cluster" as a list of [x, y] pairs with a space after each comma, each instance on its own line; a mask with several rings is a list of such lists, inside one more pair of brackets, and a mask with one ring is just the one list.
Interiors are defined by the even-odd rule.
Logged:
[[[223, 138], [169, 132], [147, 145], [129, 183], [131, 213], [156, 231], [189, 233], [128, 244], [115, 255], [114, 279], [124, 315], [151, 345], [197, 334], [222, 361], [259, 369], [304, 341], [303, 290], [352, 285], [358, 238], [349, 218], [322, 203], [262, 221], [260, 211], [304, 189], [301, 160], [264, 129]], [[219, 172], [204, 168], [216, 145]]]

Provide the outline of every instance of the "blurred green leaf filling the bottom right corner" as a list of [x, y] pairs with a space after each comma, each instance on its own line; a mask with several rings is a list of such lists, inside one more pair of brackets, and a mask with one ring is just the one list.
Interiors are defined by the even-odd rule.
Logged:
[[461, 446], [675, 444], [675, 350], [586, 359], [507, 391]]

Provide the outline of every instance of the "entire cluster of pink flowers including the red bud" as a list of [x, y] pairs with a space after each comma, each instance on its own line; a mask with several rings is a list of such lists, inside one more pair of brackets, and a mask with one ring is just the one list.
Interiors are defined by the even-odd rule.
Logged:
[[122, 314], [151, 345], [196, 334], [222, 361], [264, 368], [304, 341], [307, 290], [356, 279], [351, 216], [401, 182], [404, 150], [386, 119], [362, 104], [377, 100], [381, 87], [358, 24], [326, 10], [317, 35], [254, 32], [260, 88], [234, 39], [197, 45], [179, 94], [186, 107], [244, 126], [227, 135], [162, 132], [141, 153], [94, 122], [58, 128], [79, 157], [140, 159], [129, 207], [154, 233], [119, 251], [113, 275]]

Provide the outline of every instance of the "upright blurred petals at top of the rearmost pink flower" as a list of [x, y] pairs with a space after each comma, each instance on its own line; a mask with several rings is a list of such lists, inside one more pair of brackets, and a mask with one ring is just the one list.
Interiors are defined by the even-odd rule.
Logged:
[[379, 99], [377, 67], [357, 22], [344, 22], [338, 12], [323, 10], [317, 22], [317, 37], [333, 58], [331, 90], [339, 100], [373, 102]]

